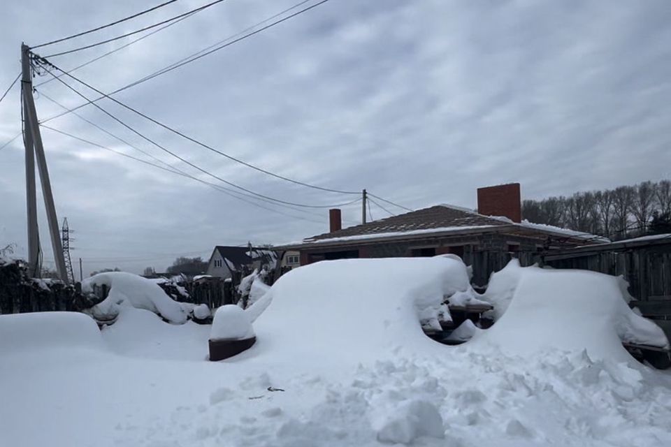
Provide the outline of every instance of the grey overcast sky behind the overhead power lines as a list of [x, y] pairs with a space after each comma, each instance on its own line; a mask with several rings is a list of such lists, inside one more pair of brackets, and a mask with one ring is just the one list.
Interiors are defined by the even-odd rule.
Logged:
[[[297, 2], [227, 0], [73, 74], [113, 91]], [[37, 45], [157, 3], [3, 2], [0, 89], [20, 71], [22, 41]], [[205, 3], [181, 0], [36, 52], [94, 43]], [[73, 68], [141, 35], [52, 62]], [[41, 119], [62, 109], [39, 91], [68, 107], [82, 102], [50, 82], [36, 93]], [[478, 186], [507, 182], [520, 182], [524, 198], [543, 198], [658, 180], [671, 177], [671, 3], [331, 0], [116, 98], [266, 170], [327, 188], [366, 188], [413, 209], [475, 207]], [[311, 205], [356, 198], [269, 177], [110, 101], [100, 105], [246, 189]], [[20, 131], [19, 112], [15, 86], [0, 103], [0, 145]], [[217, 182], [91, 105], [79, 112], [145, 152]], [[72, 114], [48, 125], [151, 161]], [[326, 209], [258, 202], [278, 211], [271, 212], [193, 179], [42, 132], [57, 214], [74, 231], [73, 261], [84, 259], [85, 275], [112, 267], [164, 270], [176, 256], [207, 258], [217, 244], [289, 242], [327, 230]], [[19, 255], [27, 246], [23, 157], [20, 138], [0, 150], [0, 246], [15, 243]], [[52, 266], [39, 195], [38, 206], [45, 265]], [[361, 219], [360, 204], [344, 210], [345, 225]], [[374, 219], [388, 215], [376, 205], [371, 212]]]

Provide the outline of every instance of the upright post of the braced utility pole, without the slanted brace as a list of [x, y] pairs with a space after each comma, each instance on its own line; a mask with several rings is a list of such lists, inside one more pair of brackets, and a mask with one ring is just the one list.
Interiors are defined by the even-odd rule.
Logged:
[[[27, 96], [32, 98], [32, 78], [30, 74], [30, 59], [28, 47], [21, 47], [21, 94], [23, 103], [23, 114], [27, 115]], [[31, 123], [28, 119], [24, 121], [23, 144], [26, 149], [26, 207], [28, 215], [28, 268], [32, 277], [41, 276], [40, 258], [40, 233], [37, 228], [37, 198], [35, 190], [35, 152], [33, 150], [33, 135]]]

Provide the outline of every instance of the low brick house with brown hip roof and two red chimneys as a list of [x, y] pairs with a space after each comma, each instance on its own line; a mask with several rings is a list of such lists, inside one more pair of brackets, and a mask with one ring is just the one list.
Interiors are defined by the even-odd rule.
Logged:
[[435, 205], [349, 228], [341, 228], [340, 210], [329, 210], [329, 233], [300, 244], [276, 247], [300, 252], [301, 265], [342, 258], [389, 258], [455, 254], [472, 265], [473, 283], [519, 258], [540, 261], [552, 249], [607, 241], [603, 237], [522, 220], [519, 183], [477, 190], [478, 212]]

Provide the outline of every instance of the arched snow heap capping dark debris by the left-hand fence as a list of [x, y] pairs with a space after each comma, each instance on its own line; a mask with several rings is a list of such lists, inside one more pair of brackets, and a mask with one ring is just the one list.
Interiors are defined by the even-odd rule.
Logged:
[[120, 305], [130, 305], [154, 312], [171, 323], [187, 321], [187, 312], [180, 303], [166, 295], [151, 279], [127, 272], [99, 273], [82, 281], [82, 292], [92, 293], [103, 284], [110, 289], [108, 297], [89, 309], [89, 314], [96, 320], [113, 320], [120, 312]]

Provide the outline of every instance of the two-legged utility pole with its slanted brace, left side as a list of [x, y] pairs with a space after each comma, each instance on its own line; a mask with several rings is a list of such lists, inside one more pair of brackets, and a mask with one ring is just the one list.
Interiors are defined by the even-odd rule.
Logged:
[[47, 168], [47, 159], [44, 155], [42, 145], [42, 135], [37, 120], [37, 111], [33, 100], [33, 77], [30, 66], [30, 52], [28, 45], [21, 45], [21, 68], [22, 68], [22, 99], [24, 115], [24, 146], [26, 149], [26, 195], [28, 207], [28, 263], [31, 273], [39, 275], [38, 257], [40, 247], [40, 236], [37, 228], [37, 201], [35, 196], [35, 165], [40, 172], [40, 182], [42, 184], [42, 196], [47, 212], [47, 221], [49, 223], [49, 233], [51, 236], [51, 248], [54, 252], [54, 261], [59, 278], [68, 284], [68, 274], [65, 268], [65, 259], [63, 256], [63, 247], [58, 228], [58, 219], [56, 217], [56, 207], [54, 197], [51, 192], [51, 182], [49, 180], [49, 170]]

